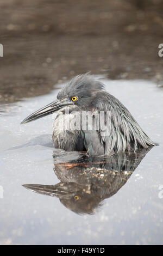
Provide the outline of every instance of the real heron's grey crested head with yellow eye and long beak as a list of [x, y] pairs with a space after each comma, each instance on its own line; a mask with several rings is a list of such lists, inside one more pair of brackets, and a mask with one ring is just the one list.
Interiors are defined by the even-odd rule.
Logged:
[[24, 119], [21, 124], [45, 117], [46, 115], [57, 112], [65, 107], [74, 109], [78, 106], [80, 109], [89, 109], [92, 100], [98, 92], [101, 92], [104, 86], [96, 81], [93, 76], [84, 74], [74, 77], [70, 83], [58, 93], [57, 100], [49, 103], [47, 106], [35, 111]]

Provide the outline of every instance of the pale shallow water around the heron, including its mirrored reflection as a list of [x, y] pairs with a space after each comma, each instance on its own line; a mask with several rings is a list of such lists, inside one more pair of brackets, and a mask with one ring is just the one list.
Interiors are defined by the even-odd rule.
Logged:
[[102, 81], [160, 145], [147, 154], [101, 161], [54, 151], [54, 115], [26, 125], [20, 122], [52, 102], [59, 88], [1, 105], [1, 244], [163, 242], [163, 90], [150, 81]]

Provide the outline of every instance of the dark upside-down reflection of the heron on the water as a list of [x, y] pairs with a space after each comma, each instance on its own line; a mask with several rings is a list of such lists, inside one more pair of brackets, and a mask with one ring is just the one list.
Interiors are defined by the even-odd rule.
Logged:
[[149, 150], [103, 158], [73, 151], [54, 151], [54, 172], [61, 182], [23, 186], [40, 194], [58, 197], [66, 208], [77, 214], [93, 214], [104, 199], [113, 196], [126, 184]]

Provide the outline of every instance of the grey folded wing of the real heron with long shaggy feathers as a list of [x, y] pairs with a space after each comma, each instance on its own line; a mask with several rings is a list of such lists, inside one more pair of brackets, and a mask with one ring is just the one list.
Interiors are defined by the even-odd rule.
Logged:
[[[111, 155], [155, 145], [126, 107], [114, 96], [100, 92], [92, 101], [92, 113], [99, 113], [99, 127], [84, 130], [82, 136], [90, 154]], [[102, 121], [101, 121], [102, 120]]]

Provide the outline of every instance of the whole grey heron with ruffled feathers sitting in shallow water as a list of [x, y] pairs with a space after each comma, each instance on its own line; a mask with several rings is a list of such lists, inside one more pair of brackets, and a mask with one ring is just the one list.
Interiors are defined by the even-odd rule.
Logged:
[[158, 145], [128, 109], [105, 91], [104, 84], [88, 73], [73, 77], [56, 100], [29, 115], [21, 124], [54, 112], [58, 112], [53, 123], [54, 148], [103, 156]]

